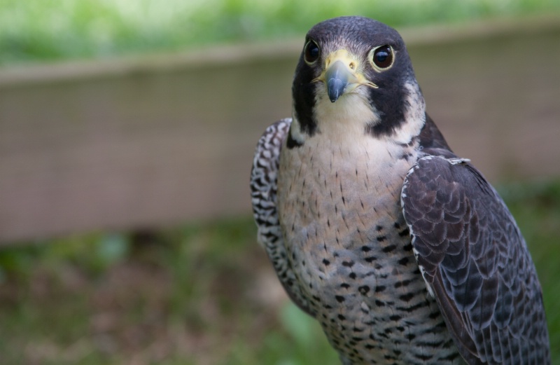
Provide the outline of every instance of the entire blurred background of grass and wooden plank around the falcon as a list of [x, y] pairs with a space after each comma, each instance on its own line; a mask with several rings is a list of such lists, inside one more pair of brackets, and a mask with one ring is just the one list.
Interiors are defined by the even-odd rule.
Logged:
[[560, 364], [559, 0], [2, 0], [0, 364], [338, 364], [248, 188], [305, 32], [338, 15], [402, 34], [526, 237]]

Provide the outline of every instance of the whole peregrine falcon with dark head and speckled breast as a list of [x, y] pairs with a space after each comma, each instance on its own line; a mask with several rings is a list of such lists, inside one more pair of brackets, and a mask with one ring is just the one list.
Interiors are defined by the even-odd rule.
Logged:
[[426, 114], [398, 32], [315, 25], [292, 92], [253, 159], [258, 241], [342, 363], [549, 364], [524, 238]]

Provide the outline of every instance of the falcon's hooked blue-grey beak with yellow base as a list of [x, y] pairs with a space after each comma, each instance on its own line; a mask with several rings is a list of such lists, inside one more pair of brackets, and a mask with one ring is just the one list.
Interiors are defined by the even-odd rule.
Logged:
[[325, 71], [314, 81], [323, 81], [330, 102], [336, 102], [341, 95], [351, 92], [359, 85], [377, 88], [358, 70], [358, 61], [347, 50], [340, 49], [328, 55]]

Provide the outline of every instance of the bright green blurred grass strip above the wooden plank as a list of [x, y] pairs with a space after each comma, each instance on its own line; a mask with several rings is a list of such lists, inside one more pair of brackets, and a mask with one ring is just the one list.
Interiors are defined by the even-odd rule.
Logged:
[[300, 36], [365, 15], [395, 27], [560, 12], [558, 0], [3, 0], [0, 65]]

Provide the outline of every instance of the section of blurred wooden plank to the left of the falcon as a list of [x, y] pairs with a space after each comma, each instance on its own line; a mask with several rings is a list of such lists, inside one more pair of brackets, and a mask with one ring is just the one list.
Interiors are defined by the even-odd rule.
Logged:
[[[293, 62], [0, 89], [0, 241], [249, 212]], [[266, 82], [262, 82], [266, 81]]]

